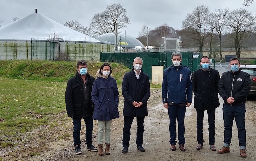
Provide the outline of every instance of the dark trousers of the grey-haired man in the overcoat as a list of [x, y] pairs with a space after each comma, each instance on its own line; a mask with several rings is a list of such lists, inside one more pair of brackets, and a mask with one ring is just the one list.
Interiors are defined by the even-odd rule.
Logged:
[[[137, 118], [137, 146], [142, 146], [143, 144], [143, 134], [144, 134], [144, 119], [145, 117], [136, 117]], [[124, 128], [123, 128], [123, 147], [129, 147], [130, 141], [130, 128], [132, 126], [134, 117], [124, 116]]]

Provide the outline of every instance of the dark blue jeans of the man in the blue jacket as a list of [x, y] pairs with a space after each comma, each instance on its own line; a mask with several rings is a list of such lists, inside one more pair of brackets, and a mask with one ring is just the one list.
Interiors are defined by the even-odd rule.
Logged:
[[185, 144], [185, 112], [186, 106], [181, 107], [179, 104], [169, 105], [168, 114], [170, 119], [169, 131], [170, 131], [170, 144], [177, 143], [176, 141], [176, 118], [178, 120], [178, 141], [179, 145]]

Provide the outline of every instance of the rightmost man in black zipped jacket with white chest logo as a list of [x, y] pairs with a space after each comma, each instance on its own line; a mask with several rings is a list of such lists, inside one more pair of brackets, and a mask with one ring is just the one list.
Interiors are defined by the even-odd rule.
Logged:
[[240, 70], [238, 58], [229, 61], [230, 71], [222, 74], [218, 84], [218, 91], [223, 98], [224, 119], [224, 145], [218, 153], [229, 152], [232, 137], [233, 120], [235, 118], [238, 128], [240, 156], [246, 157], [246, 132], [245, 132], [245, 101], [251, 89], [251, 79], [248, 73]]

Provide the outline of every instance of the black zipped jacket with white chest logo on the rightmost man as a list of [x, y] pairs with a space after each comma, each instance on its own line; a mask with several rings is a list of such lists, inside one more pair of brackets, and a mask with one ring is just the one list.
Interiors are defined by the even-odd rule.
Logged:
[[218, 91], [224, 103], [229, 97], [235, 98], [235, 102], [230, 105], [245, 104], [246, 97], [251, 90], [251, 79], [248, 73], [240, 69], [233, 73], [231, 70], [222, 74], [218, 84]]

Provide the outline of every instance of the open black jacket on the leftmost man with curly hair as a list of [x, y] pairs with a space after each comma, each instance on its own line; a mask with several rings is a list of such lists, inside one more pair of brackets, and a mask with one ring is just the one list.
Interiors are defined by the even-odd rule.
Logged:
[[87, 88], [87, 98], [85, 100], [84, 88], [82, 87], [81, 76], [77, 72], [74, 77], [69, 79], [66, 86], [66, 111], [69, 117], [92, 117], [92, 112], [94, 109], [94, 104], [91, 100], [92, 84], [95, 78], [86, 74], [86, 88]]

